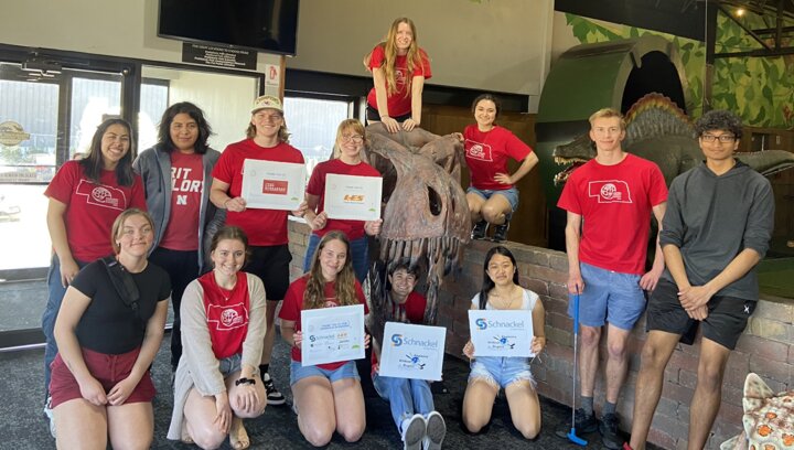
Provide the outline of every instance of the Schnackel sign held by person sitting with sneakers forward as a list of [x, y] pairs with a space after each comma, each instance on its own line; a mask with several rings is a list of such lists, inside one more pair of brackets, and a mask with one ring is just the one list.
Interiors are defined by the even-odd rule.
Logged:
[[380, 375], [441, 379], [447, 329], [386, 322], [380, 345]]

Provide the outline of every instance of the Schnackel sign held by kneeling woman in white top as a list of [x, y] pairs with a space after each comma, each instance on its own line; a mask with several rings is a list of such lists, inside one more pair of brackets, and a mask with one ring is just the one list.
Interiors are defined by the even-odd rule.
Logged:
[[535, 356], [528, 310], [469, 310], [474, 356]]

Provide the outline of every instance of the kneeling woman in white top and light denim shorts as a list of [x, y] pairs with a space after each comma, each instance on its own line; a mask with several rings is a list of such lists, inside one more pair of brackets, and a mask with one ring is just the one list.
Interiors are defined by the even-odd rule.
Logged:
[[[539, 354], [546, 346], [546, 311], [537, 293], [518, 285], [518, 267], [511, 250], [498, 245], [489, 250], [483, 265], [483, 285], [472, 299], [471, 309], [532, 311], [532, 352]], [[527, 357], [474, 357], [469, 341], [463, 354], [471, 360], [469, 385], [463, 394], [463, 424], [471, 432], [479, 432], [491, 420], [493, 404], [500, 387], [505, 389], [513, 425], [526, 439], [540, 432], [540, 401]]]

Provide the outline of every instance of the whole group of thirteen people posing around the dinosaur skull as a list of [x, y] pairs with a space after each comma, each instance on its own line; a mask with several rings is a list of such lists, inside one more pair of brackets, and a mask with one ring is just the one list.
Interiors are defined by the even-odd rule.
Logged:
[[[419, 126], [430, 64], [416, 43], [414, 23], [396, 20], [366, 64], [375, 82], [368, 121], [383, 121], [390, 132]], [[515, 183], [536, 165], [537, 157], [495, 125], [495, 97], [478, 97], [472, 111], [476, 124], [461, 137], [472, 175], [466, 193], [472, 237], [484, 238], [493, 224], [493, 240], [500, 242], [517, 207]], [[292, 346], [290, 387], [301, 432], [314, 446], [328, 443], [334, 432], [347, 441], [364, 432], [354, 362], [303, 366], [300, 317], [304, 309], [360, 303], [366, 309], [361, 282], [367, 271], [367, 236], [379, 233], [382, 221], [329, 218], [323, 199], [329, 173], [379, 176], [362, 160], [365, 129], [354, 119], [340, 124], [334, 158], [318, 164], [305, 202], [291, 212], [304, 217], [312, 232], [305, 275], [290, 283], [289, 212], [246, 207], [243, 165], [246, 159], [303, 163], [303, 157], [288, 143], [278, 98], [257, 98], [250, 113], [247, 138], [219, 153], [207, 144], [212, 129], [202, 110], [190, 103], [172, 105], [160, 122], [159, 142], [135, 162], [129, 124], [108, 119], [97, 128], [87, 157], [66, 162], [47, 188], [54, 256], [42, 323], [47, 342], [45, 410], [54, 415], [58, 447], [79, 442], [104, 448], [108, 438], [115, 448], [150, 446], [154, 388], [149, 367], [163, 336], [169, 298], [175, 372], [170, 439], [216, 448], [228, 437], [233, 448], [247, 448], [242, 419], [286, 401], [269, 375], [281, 300], [281, 335]], [[700, 373], [706, 379], [696, 389], [698, 414], [693, 414], [690, 428], [690, 447], [697, 448], [719, 406], [725, 361], [758, 299], [752, 267], [771, 234], [769, 182], [733, 159], [741, 126], [725, 111], [701, 118], [706, 163], [676, 179], [669, 194], [657, 167], [622, 151], [625, 124], [620, 114], [601, 110], [590, 122], [598, 156], [573, 172], [559, 202], [568, 211], [568, 289], [581, 296], [582, 304], [576, 428], [601, 429], [608, 447], [622, 444], [615, 404], [626, 373], [625, 345], [645, 308], [643, 290], [648, 290], [654, 292], [654, 314], [643, 351], [640, 381], [645, 388], [636, 396], [632, 443], [644, 443], [661, 374], [678, 336], [702, 322]], [[506, 170], [507, 159], [521, 161], [513, 174]], [[645, 274], [652, 213], [662, 226], [656, 258]], [[416, 268], [397, 264], [388, 278], [400, 317], [421, 323], [426, 300], [414, 291]], [[519, 286], [516, 260], [507, 248], [495, 246], [487, 253], [482, 290], [471, 308], [532, 311], [532, 351], [543, 351], [543, 303]], [[605, 324], [607, 405], [599, 422], [593, 389]], [[405, 448], [440, 448], [446, 424], [434, 411], [428, 382], [380, 376], [378, 350], [375, 342], [371, 375], [390, 404]], [[504, 388], [516, 428], [528, 439], [537, 436], [540, 413], [530, 360], [474, 357], [471, 342], [463, 352], [472, 358], [463, 400], [465, 427], [480, 431]]]

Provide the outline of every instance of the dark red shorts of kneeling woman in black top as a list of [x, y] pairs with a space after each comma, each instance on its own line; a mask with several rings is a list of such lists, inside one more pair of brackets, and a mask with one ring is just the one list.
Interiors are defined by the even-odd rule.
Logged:
[[[140, 347], [120, 355], [108, 355], [88, 349], [82, 349], [82, 351], [88, 372], [103, 385], [105, 394], [107, 394], [118, 382], [129, 376], [136, 360], [138, 360]], [[77, 379], [72, 375], [72, 371], [61, 358], [60, 353], [55, 356], [50, 369], [52, 371], [50, 395], [52, 395], [53, 408], [64, 401], [83, 398]], [[147, 371], [125, 404], [151, 401], [154, 393], [154, 384]]]

